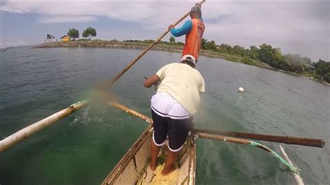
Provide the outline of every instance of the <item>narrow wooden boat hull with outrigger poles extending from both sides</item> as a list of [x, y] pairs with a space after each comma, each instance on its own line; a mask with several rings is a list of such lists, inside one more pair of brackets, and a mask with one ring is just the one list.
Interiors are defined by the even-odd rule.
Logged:
[[[283, 159], [279, 154], [271, 150], [269, 147], [257, 143], [252, 140], [243, 138], [259, 138], [261, 140], [269, 140], [280, 143], [308, 145], [313, 147], [323, 147], [324, 140], [309, 139], [309, 138], [296, 138], [289, 136], [267, 136], [261, 134], [245, 134], [239, 132], [226, 132], [226, 131], [207, 131], [203, 129], [191, 129], [187, 140], [178, 155], [175, 167], [177, 168], [170, 175], [162, 176], [161, 169], [164, 161], [166, 161], [166, 145], [164, 145], [159, 152], [158, 159], [160, 161], [160, 168], [155, 171], [150, 170], [150, 142], [152, 140], [152, 119], [137, 111], [134, 111], [123, 104], [118, 102], [109, 102], [110, 106], [118, 108], [126, 113], [141, 118], [149, 123], [147, 129], [136, 140], [134, 145], [127, 151], [123, 158], [118, 162], [115, 168], [109, 173], [107, 178], [104, 179], [102, 185], [106, 184], [195, 184], [196, 178], [196, 138], [207, 138], [214, 140], [221, 140], [230, 143], [239, 143], [244, 145], [251, 145], [258, 147], [266, 152], [275, 156], [276, 159], [281, 161], [285, 166], [294, 172], [294, 177], [297, 179], [298, 184], [303, 184], [299, 175], [299, 170], [284, 152]], [[225, 136], [226, 135], [226, 136]], [[239, 136], [241, 138], [234, 138], [232, 136]], [[281, 145], [280, 145], [281, 146]]]

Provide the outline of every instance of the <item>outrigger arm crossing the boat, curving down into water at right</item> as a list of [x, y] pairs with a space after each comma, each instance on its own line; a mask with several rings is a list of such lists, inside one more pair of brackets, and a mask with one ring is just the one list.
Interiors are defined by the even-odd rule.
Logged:
[[[145, 120], [149, 124], [152, 124], [152, 119], [149, 118], [147, 115], [143, 115], [142, 113], [139, 113], [137, 111], [132, 110], [131, 108], [128, 108], [127, 106], [124, 106], [123, 104], [119, 104], [118, 102], [109, 102], [110, 106], [113, 106], [115, 108], [118, 108], [122, 111], [125, 111], [126, 113], [129, 113], [131, 115], [136, 116], [137, 118], [140, 118], [141, 120]], [[192, 134], [196, 138], [208, 138], [208, 139], [213, 139], [213, 140], [222, 140], [224, 142], [230, 142], [230, 143], [239, 143], [239, 144], [244, 144], [244, 145], [251, 145], [253, 147], [259, 147], [262, 150], [265, 150], [272, 154], [272, 156], [275, 156], [276, 159], [281, 161], [285, 166], [288, 166], [288, 168], [294, 172], [297, 173], [298, 175], [300, 174], [298, 168], [293, 166], [292, 164], [288, 163], [288, 161], [285, 161], [279, 154], [271, 150], [269, 147], [262, 145], [256, 141], [253, 140], [246, 140], [242, 138], [234, 138], [234, 137], [227, 137], [227, 136], [221, 136], [221, 135], [215, 135], [215, 134], [206, 134], [202, 133], [201, 131], [198, 131], [196, 133]]]

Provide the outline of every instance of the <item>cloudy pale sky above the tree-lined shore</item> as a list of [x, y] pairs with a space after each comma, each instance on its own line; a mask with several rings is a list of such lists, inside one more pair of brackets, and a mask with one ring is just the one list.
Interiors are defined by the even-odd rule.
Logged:
[[[98, 39], [155, 40], [195, 2], [0, 0], [0, 48], [38, 45], [47, 33], [60, 38], [70, 28], [81, 34], [88, 26], [96, 29]], [[202, 11], [203, 38], [218, 45], [249, 48], [266, 43], [281, 48], [283, 54], [330, 61], [329, 0], [207, 0]], [[184, 37], [177, 40], [183, 42]]]

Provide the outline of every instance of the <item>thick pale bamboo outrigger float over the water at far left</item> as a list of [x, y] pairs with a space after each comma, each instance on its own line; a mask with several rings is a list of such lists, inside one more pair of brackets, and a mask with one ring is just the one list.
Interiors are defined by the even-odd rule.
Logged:
[[36, 123], [33, 123], [30, 126], [25, 127], [20, 131], [17, 131], [15, 134], [12, 134], [7, 138], [4, 138], [3, 140], [0, 140], [0, 152], [7, 150], [9, 147], [15, 145], [20, 140], [23, 140], [24, 138], [31, 136], [37, 131], [40, 131], [41, 129], [49, 126], [53, 122], [61, 120], [62, 118], [65, 118], [71, 113], [74, 113], [75, 111], [78, 111], [79, 109], [84, 108], [87, 105], [88, 105], [88, 100], [84, 100], [82, 102], [77, 102], [76, 104], [72, 104], [68, 108], [65, 108], [62, 111], [58, 111], [57, 113], [49, 115], [47, 118], [40, 120]]

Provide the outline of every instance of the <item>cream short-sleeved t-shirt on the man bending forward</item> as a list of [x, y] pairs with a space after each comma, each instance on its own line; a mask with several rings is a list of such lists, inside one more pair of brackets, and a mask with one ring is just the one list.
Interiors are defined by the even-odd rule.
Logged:
[[187, 64], [171, 63], [162, 67], [156, 74], [161, 80], [157, 93], [168, 93], [191, 115], [195, 115], [201, 102], [199, 93], [205, 92], [201, 73]]

